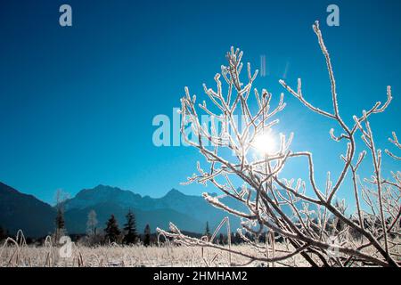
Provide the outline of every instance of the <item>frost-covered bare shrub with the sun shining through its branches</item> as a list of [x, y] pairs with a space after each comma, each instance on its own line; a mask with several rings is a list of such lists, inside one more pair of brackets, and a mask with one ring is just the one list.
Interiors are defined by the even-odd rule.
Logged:
[[[376, 148], [369, 123], [372, 115], [383, 112], [389, 106], [391, 88], [389, 86], [387, 89], [385, 103], [377, 102], [370, 110], [363, 110], [360, 116], [353, 117], [354, 123], [348, 125], [340, 115], [331, 58], [317, 21], [313, 29], [331, 81], [332, 110], [322, 110], [308, 102], [302, 94], [301, 79], [296, 89], [283, 80], [280, 80], [280, 84], [307, 109], [338, 124], [340, 135], [334, 134], [334, 129], [330, 130], [330, 135], [335, 142], [347, 142], [345, 153], [340, 156], [340, 175], [331, 177], [329, 172], [325, 187], [319, 187], [315, 182], [313, 154], [309, 151], [291, 151], [292, 134], [289, 138], [280, 134], [278, 150], [266, 151], [261, 157], [252, 155], [252, 151], [258, 147], [258, 139], [278, 124], [274, 116], [284, 110], [285, 103], [282, 94], [277, 106], [272, 107], [272, 94], [265, 89], [261, 94], [257, 89], [252, 90], [258, 70], [252, 73], [250, 63], [247, 65], [247, 81], [242, 82], [242, 52], [232, 48], [226, 54], [228, 65], [222, 66], [221, 73], [215, 76], [217, 89], [204, 85], [211, 105], [205, 101], [198, 104], [196, 96], [192, 96], [185, 87], [180, 110], [181, 132], [184, 141], [198, 149], [209, 165], [208, 169], [203, 169], [198, 162], [199, 174], [189, 177], [187, 183], [211, 183], [225, 196], [241, 202], [246, 211], [230, 208], [221, 199], [203, 194], [214, 207], [241, 218], [238, 232], [254, 250], [244, 252], [213, 244], [213, 240], [208, 238], [190, 238], [174, 224], [170, 224], [170, 232], [158, 229], [159, 232], [173, 238], [176, 243], [218, 248], [247, 257], [250, 262], [274, 263], [300, 255], [312, 266], [400, 265], [401, 175], [397, 171], [391, 173], [391, 180], [383, 178], [382, 151]], [[227, 86], [225, 94], [221, 77]], [[257, 110], [250, 107], [253, 106], [250, 105], [251, 93], [254, 93], [258, 104]], [[201, 114], [210, 117], [210, 128], [201, 124]], [[235, 118], [238, 115], [244, 123], [242, 127]], [[192, 132], [188, 132], [188, 124]], [[360, 146], [361, 151], [356, 150], [356, 135], [362, 135], [364, 145]], [[393, 134], [390, 142], [400, 148], [396, 134]], [[400, 159], [391, 151], [386, 150], [386, 153], [393, 159]], [[372, 177], [362, 179], [357, 175], [358, 168], [367, 156], [372, 161]], [[291, 159], [307, 161], [306, 181], [282, 177], [282, 169]], [[348, 174], [352, 177], [353, 185], [350, 191], [353, 191], [356, 200], [356, 213], [351, 216], [347, 215], [346, 201], [336, 198]], [[236, 188], [233, 181], [238, 178], [243, 183], [241, 190]], [[288, 214], [289, 209], [291, 214]], [[266, 230], [273, 239], [266, 237], [270, 242], [261, 245], [258, 237]], [[255, 238], [249, 239], [247, 234]], [[287, 250], [274, 251], [275, 235], [285, 240]]]

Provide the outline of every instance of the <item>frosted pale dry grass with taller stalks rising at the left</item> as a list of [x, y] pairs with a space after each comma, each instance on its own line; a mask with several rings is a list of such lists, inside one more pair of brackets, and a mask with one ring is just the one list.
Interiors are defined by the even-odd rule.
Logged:
[[[395, 242], [393, 242], [395, 241]], [[392, 240], [394, 255], [400, 255], [399, 240]], [[232, 245], [231, 253], [228, 246], [220, 248], [205, 248], [196, 246], [176, 246], [169, 242], [158, 243], [152, 247], [110, 246], [87, 247], [70, 243], [70, 255], [65, 256], [67, 247], [53, 246], [50, 236], [43, 246], [29, 246], [21, 231], [15, 239], [8, 238], [0, 248], [0, 267], [222, 267], [222, 266], [258, 266], [280, 267], [309, 266], [301, 255], [291, 256], [282, 262], [266, 263], [258, 259], [250, 259], [233, 252], [241, 252], [248, 256], [286, 256], [293, 251], [289, 243], [268, 242], [268, 246], [260, 243]], [[366, 251], [367, 250], [367, 251]], [[366, 254], [377, 255], [370, 248], [364, 248]], [[361, 264], [364, 266], [364, 264]]]

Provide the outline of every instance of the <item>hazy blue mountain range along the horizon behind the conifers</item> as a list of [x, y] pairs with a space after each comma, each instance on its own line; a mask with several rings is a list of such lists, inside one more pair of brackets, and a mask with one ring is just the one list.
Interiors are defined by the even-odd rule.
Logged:
[[[243, 210], [233, 199], [222, 200], [231, 207]], [[122, 227], [128, 210], [135, 213], [138, 232], [143, 232], [146, 224], [151, 225], [152, 232], [156, 227], [168, 229], [169, 222], [187, 232], [205, 232], [206, 222], [209, 222], [212, 231], [225, 216], [230, 217], [232, 230], [241, 222], [212, 207], [201, 196], [185, 195], [175, 189], [156, 199], [117, 187], [98, 185], [65, 200], [63, 208], [66, 229], [71, 234], [86, 232], [87, 216], [91, 210], [96, 212], [99, 229], [105, 227], [111, 214], [116, 216]], [[29, 237], [45, 236], [54, 230], [55, 215], [56, 208], [51, 205], [0, 183], [0, 226], [9, 232], [21, 229]]]

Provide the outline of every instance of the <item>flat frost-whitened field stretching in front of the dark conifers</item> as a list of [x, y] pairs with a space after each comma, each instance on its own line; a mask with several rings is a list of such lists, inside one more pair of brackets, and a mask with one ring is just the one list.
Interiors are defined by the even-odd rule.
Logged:
[[[241, 252], [255, 254], [255, 248], [249, 245], [233, 246], [233, 249]], [[291, 249], [291, 248], [290, 248]], [[280, 244], [277, 246], [276, 255], [285, 254], [287, 248]], [[97, 248], [78, 247], [71, 248], [69, 252], [62, 248], [31, 247], [9, 245], [0, 250], [0, 266], [230, 266], [228, 253], [215, 248], [201, 247], [122, 247], [118, 245]], [[263, 253], [260, 253], [263, 256]], [[250, 263], [249, 258], [232, 255], [231, 266], [273, 266], [264, 262]], [[283, 263], [275, 263], [274, 266], [306, 266], [301, 256], [294, 256]]]

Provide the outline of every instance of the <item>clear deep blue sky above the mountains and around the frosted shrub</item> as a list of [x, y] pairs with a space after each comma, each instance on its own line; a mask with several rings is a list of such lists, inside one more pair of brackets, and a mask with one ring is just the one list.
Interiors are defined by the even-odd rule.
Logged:
[[[61, 4], [72, 6], [71, 28], [59, 26]], [[325, 25], [328, 4], [340, 6], [340, 27]], [[99, 183], [152, 197], [173, 187], [201, 193], [201, 186], [179, 185], [195, 171], [197, 152], [154, 147], [152, 118], [171, 116], [184, 85], [201, 94], [231, 45], [254, 67], [266, 54], [268, 76], [258, 87], [279, 95], [287, 67], [289, 84], [302, 77], [307, 99], [330, 109], [315, 20], [348, 122], [384, 101], [392, 85], [392, 105], [372, 119], [379, 147], [389, 147], [391, 131], [401, 136], [400, 11], [397, 0], [2, 1], [0, 181], [47, 202], [58, 188], [73, 195]], [[296, 133], [294, 150], [315, 151], [318, 178], [336, 173], [344, 146], [328, 139], [332, 122], [289, 94], [285, 100], [280, 131]]]

